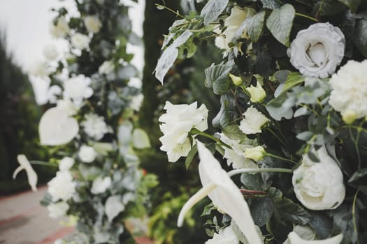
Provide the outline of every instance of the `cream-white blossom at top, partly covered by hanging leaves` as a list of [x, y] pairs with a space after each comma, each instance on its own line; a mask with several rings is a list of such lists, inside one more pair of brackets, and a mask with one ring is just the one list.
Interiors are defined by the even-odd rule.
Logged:
[[[220, 49], [229, 49], [228, 44], [231, 43], [234, 34], [242, 22], [252, 15], [256, 11], [253, 8], [240, 8], [239, 6], [233, 6], [231, 9], [231, 15], [224, 21], [226, 29], [223, 31], [224, 36], [218, 36], [215, 38], [215, 45]], [[243, 33], [243, 38], [247, 38], [246, 31]]]

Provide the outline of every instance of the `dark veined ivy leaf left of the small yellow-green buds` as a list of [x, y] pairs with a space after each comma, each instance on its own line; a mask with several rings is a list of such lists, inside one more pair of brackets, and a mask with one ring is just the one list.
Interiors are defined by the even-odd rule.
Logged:
[[215, 94], [220, 95], [226, 93], [229, 89], [230, 80], [229, 73], [233, 69], [234, 61], [229, 61], [225, 64], [210, 66], [205, 70], [205, 85], [213, 87]]

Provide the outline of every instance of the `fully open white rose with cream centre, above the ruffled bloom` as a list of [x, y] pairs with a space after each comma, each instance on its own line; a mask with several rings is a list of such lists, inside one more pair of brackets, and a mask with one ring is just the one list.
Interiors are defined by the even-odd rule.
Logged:
[[342, 61], [344, 48], [345, 37], [338, 27], [317, 23], [297, 33], [287, 54], [302, 75], [326, 78]]

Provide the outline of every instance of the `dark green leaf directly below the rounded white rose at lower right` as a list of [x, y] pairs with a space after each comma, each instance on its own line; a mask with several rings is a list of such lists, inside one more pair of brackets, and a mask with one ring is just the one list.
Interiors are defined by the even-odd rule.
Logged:
[[283, 197], [281, 200], [276, 200], [274, 204], [282, 218], [294, 224], [304, 225], [312, 220], [312, 215], [300, 205], [295, 204], [291, 199]]

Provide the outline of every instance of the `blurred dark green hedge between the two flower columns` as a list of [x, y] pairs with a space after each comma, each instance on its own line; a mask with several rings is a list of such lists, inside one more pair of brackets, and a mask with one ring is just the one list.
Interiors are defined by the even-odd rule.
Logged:
[[[187, 1], [185, 1], [187, 2]], [[200, 217], [207, 201], [201, 201], [186, 218], [183, 227], [177, 227], [180, 208], [201, 186], [197, 164], [194, 161], [189, 169], [185, 160], [168, 162], [166, 153], [159, 150], [162, 136], [158, 118], [164, 113], [166, 100], [173, 104], [192, 103], [198, 101], [198, 107], [205, 103], [209, 109], [208, 123], [211, 123], [213, 111], [219, 110], [220, 102], [210, 89], [204, 86], [204, 69], [211, 63], [222, 59], [220, 52], [210, 49], [210, 45], [198, 47], [198, 55], [185, 61], [176, 61], [162, 86], [152, 75], [157, 59], [161, 54], [163, 35], [176, 19], [168, 10], [158, 10], [156, 3], [161, 0], [146, 1], [145, 22], [143, 26], [145, 44], [145, 68], [143, 71], [144, 101], [139, 114], [139, 123], [150, 135], [152, 148], [141, 151], [142, 166], [148, 172], [157, 174], [159, 185], [152, 195], [152, 209], [149, 223], [150, 237], [156, 243], [203, 243], [208, 238], [203, 225], [205, 220]], [[165, 1], [166, 6], [180, 13], [189, 14], [189, 6], [177, 0]], [[214, 45], [211, 45], [213, 47]], [[180, 188], [178, 187], [180, 185]], [[196, 220], [196, 221], [195, 221]]]

